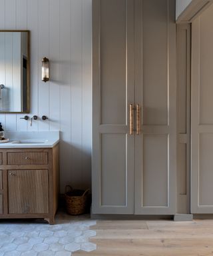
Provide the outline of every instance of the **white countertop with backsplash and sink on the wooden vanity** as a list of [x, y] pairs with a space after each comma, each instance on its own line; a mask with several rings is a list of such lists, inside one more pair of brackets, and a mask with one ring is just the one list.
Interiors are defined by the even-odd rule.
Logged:
[[0, 149], [54, 147], [59, 143], [59, 131], [5, 132], [5, 139], [10, 141], [0, 143]]

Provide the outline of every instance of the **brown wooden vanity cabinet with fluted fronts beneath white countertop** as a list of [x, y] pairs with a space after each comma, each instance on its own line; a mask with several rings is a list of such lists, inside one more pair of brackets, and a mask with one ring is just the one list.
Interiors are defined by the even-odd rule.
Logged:
[[0, 218], [54, 223], [59, 197], [59, 145], [0, 149]]

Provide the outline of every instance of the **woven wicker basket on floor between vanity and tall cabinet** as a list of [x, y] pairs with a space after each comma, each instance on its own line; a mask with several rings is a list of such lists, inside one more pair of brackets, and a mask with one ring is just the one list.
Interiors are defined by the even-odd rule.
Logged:
[[73, 189], [71, 186], [67, 185], [65, 188], [67, 213], [71, 215], [81, 215], [85, 213], [88, 201], [88, 193], [89, 189], [83, 191], [79, 189]]

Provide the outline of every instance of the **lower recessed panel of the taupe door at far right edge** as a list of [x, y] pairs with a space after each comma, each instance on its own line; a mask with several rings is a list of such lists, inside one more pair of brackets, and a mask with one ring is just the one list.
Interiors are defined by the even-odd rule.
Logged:
[[200, 133], [199, 144], [198, 205], [213, 205], [213, 133]]

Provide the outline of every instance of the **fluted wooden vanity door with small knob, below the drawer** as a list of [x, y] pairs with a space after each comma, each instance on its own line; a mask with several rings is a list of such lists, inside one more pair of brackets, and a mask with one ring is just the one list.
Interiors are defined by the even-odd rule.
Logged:
[[48, 213], [48, 170], [9, 170], [9, 213]]

